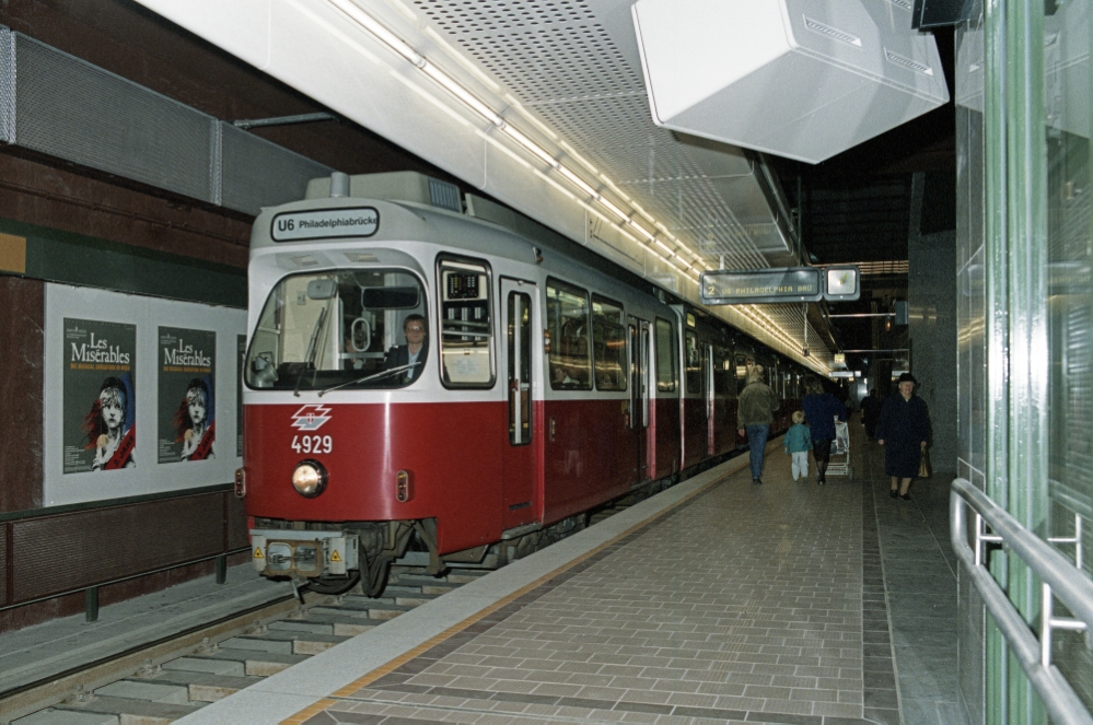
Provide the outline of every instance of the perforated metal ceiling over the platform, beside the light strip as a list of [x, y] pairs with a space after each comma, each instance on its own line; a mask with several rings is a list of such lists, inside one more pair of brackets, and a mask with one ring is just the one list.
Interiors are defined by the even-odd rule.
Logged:
[[[524, 113], [535, 115], [619, 190], [686, 239], [708, 267], [768, 267], [771, 258], [793, 264], [786, 261], [786, 242], [743, 156], [711, 173], [709, 163], [696, 161], [686, 140], [652, 122], [636, 47], [624, 48], [615, 40], [625, 40], [627, 33], [632, 38], [628, 2], [408, 2], [515, 97]], [[614, 17], [615, 24], [605, 17]], [[708, 162], [710, 152], [701, 153]], [[743, 185], [733, 186], [741, 176], [751, 178], [752, 188], [746, 203], [734, 209], [729, 197], [741, 191]], [[756, 212], [756, 203], [764, 210]], [[767, 314], [801, 335], [801, 309], [780, 307], [768, 307]], [[813, 337], [818, 342], [818, 336]]]

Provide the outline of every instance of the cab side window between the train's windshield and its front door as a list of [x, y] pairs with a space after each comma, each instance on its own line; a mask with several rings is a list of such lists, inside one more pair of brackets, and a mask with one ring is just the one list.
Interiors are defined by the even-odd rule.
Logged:
[[440, 375], [445, 387], [493, 386], [493, 323], [486, 265], [441, 258]]

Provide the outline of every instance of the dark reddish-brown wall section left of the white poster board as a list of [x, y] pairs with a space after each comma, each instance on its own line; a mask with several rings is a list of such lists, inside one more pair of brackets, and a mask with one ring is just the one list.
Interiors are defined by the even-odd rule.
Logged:
[[42, 506], [45, 284], [0, 277], [0, 513]]

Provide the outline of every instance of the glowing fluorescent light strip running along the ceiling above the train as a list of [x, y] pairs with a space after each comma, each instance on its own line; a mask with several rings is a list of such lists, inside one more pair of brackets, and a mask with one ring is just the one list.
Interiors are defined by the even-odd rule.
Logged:
[[[574, 159], [581, 161], [586, 167], [592, 169], [593, 176], [604, 184], [605, 188], [609, 188], [617, 197], [625, 200], [627, 206], [631, 207], [630, 211], [627, 211], [619, 204], [617, 204], [612, 199], [604, 196], [601, 189], [597, 189], [592, 184], [590, 184], [585, 178], [578, 174], [574, 169], [570, 168], [561, 159], [557, 157], [554, 153], [548, 151], [542, 144], [530, 138], [526, 133], [521, 131], [519, 128], [513, 126], [509, 120], [503, 118], [499, 112], [492, 108], [489, 104], [479, 98], [475, 93], [469, 91], [458, 80], [450, 75], [439, 66], [430, 62], [429, 59], [416, 50], [409, 43], [405, 42], [383, 23], [379, 22], [358, 4], [351, 0], [327, 0], [329, 4], [340, 11], [350, 21], [359, 25], [361, 28], [371, 34], [374, 38], [380, 40], [383, 45], [394, 51], [397, 56], [402, 57], [408, 63], [417, 68], [422, 74], [428, 77], [437, 85], [442, 87], [452, 97], [458, 100], [467, 109], [473, 114], [488, 122], [490, 126], [497, 130], [504, 133], [505, 137], [511, 139], [524, 151], [530, 153], [535, 159], [546, 164], [550, 169], [553, 169], [558, 176], [566, 179], [571, 186], [579, 189], [589, 202], [595, 202], [601, 208], [606, 210], [615, 220], [615, 223], [628, 236], [636, 237], [637, 239], [644, 243], [644, 246], [654, 252], [660, 258], [672, 265], [673, 269], [677, 269], [683, 273], [684, 279], [689, 280], [691, 283], [697, 284], [699, 277], [702, 271], [712, 269], [706, 264], [702, 256], [684, 244], [676, 235], [674, 235], [668, 227], [656, 220], [656, 218], [649, 211], [639, 207], [633, 202], [629, 196], [623, 192], [618, 185], [615, 184], [603, 173], [594, 169], [591, 164], [581, 159], [580, 154], [574, 152], [568, 144], [560, 143], [567, 151], [570, 152]], [[510, 104], [505, 113], [512, 115], [513, 108], [519, 109], [519, 103]], [[522, 120], [527, 120], [524, 115], [519, 116]], [[530, 125], [540, 125], [534, 119], [530, 121]], [[553, 132], [549, 128], [545, 128], [548, 136], [557, 138], [557, 135]], [[589, 202], [585, 202], [588, 206]], [[682, 201], [681, 201], [682, 206]], [[755, 248], [754, 244], [751, 244], [746, 229], [736, 218], [732, 214], [732, 211], [724, 208], [723, 203], [717, 204], [722, 209], [722, 213], [726, 214], [724, 223], [719, 225], [718, 231], [728, 233], [730, 239], [737, 243], [737, 249], [741, 247], [747, 248], [752, 247], [749, 253], [744, 254], [733, 254], [733, 255], [722, 255], [722, 257], [733, 257], [732, 261], [736, 268], [747, 268], [747, 267], [765, 267], [767, 266], [766, 259], [763, 255]], [[591, 210], [591, 207], [590, 207]], [[644, 223], [639, 221], [644, 220]], [[691, 224], [689, 230], [693, 232], [701, 232], [702, 220], [696, 220], [698, 224]], [[685, 229], [688, 229], [685, 226]], [[666, 241], [665, 241], [666, 238]], [[712, 238], [712, 237], [711, 237]], [[769, 307], [790, 307], [790, 305], [769, 305]], [[790, 316], [792, 316], [792, 311]], [[803, 313], [798, 312], [798, 319], [795, 320], [797, 327], [801, 327], [803, 323]], [[783, 314], [775, 313], [778, 317], [784, 317]], [[801, 343], [799, 340], [794, 339], [791, 335], [786, 332], [786, 327], [783, 324], [776, 321], [771, 315], [764, 312], [759, 306], [756, 305], [741, 305], [734, 306], [726, 311], [726, 316], [737, 317], [737, 319], [746, 319], [756, 326], [759, 330], [768, 335], [775, 341], [784, 346], [783, 352], [790, 354], [793, 358], [800, 356]], [[789, 321], [789, 320], [787, 320]], [[743, 326], [743, 325], [742, 325]], [[827, 351], [826, 346], [823, 344], [822, 339], [818, 335], [815, 336], [816, 349], [823, 349]], [[829, 354], [829, 351], [827, 351]], [[812, 358], [809, 363], [815, 367], [818, 367], [822, 372], [829, 372], [828, 366], [823, 360], [817, 358]]]

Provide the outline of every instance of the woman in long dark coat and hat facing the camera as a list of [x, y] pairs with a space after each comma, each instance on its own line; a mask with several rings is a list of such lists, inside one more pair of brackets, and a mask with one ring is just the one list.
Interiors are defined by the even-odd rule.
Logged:
[[918, 475], [919, 461], [930, 438], [930, 417], [922, 398], [915, 395], [918, 381], [910, 373], [899, 376], [899, 395], [884, 400], [876, 422], [876, 442], [884, 446], [884, 472], [892, 477], [889, 495], [910, 501], [907, 489]]

